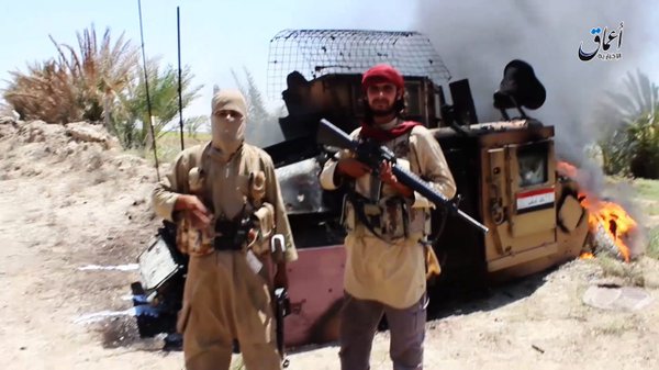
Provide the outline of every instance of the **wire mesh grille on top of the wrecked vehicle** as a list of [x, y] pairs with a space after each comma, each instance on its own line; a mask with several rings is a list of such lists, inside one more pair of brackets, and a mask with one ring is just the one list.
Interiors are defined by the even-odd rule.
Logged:
[[379, 63], [435, 83], [450, 80], [431, 41], [417, 32], [284, 30], [270, 41], [267, 92], [279, 98], [293, 70], [310, 80], [327, 74], [362, 74]]

